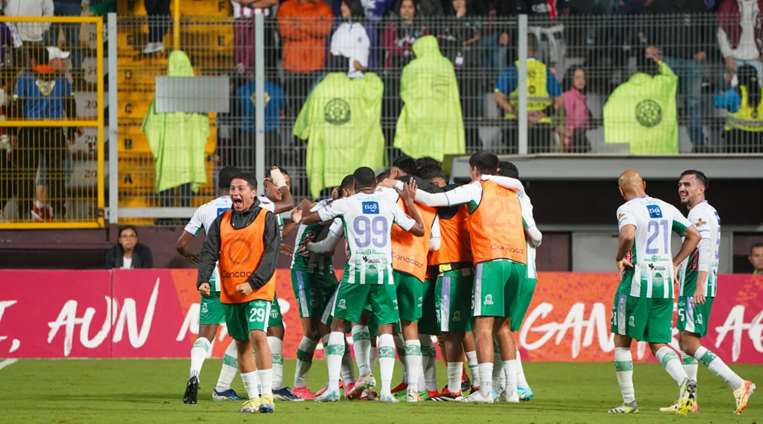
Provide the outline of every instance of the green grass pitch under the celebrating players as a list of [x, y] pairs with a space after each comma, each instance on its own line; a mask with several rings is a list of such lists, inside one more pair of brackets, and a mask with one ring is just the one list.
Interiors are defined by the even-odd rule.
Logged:
[[[700, 369], [699, 414], [665, 416], [657, 412], [677, 396], [677, 388], [662, 368], [637, 364], [638, 416], [610, 416], [606, 410], [620, 402], [612, 364], [528, 363], [525, 371], [535, 391], [531, 402], [496, 405], [423, 402], [390, 405], [355, 401], [276, 405], [273, 415], [245, 416], [237, 402], [213, 402], [210, 390], [219, 360], [204, 365], [201, 399], [181, 402], [188, 372], [181, 360], [20, 360], [0, 370], [2, 423], [131, 423], [131, 422], [286, 422], [313, 424], [380, 422], [426, 423], [763, 423], [763, 393], [753, 396], [741, 417], [733, 415], [731, 391], [718, 378]], [[735, 366], [743, 376], [763, 382], [763, 367]], [[286, 364], [290, 382], [294, 363]], [[442, 383], [445, 373], [438, 370]], [[326, 367], [317, 361], [311, 374], [313, 390], [325, 380]], [[395, 376], [394, 383], [399, 381]], [[243, 392], [237, 377], [234, 388]]]

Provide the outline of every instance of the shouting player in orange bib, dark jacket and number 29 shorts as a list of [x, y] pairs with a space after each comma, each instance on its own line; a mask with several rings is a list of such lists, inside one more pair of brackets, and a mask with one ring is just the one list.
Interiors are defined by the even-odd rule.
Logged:
[[260, 207], [256, 189], [254, 175], [238, 173], [232, 177], [233, 207], [217, 217], [209, 228], [201, 250], [197, 282], [199, 293], [209, 296], [209, 281], [219, 261], [220, 302], [228, 333], [236, 341], [241, 379], [249, 398], [241, 407], [245, 413], [275, 410], [266, 330], [275, 297], [280, 237], [276, 217]]

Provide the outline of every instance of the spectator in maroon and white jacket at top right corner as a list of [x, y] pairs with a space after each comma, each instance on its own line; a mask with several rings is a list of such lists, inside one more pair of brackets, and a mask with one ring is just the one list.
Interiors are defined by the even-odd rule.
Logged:
[[763, 43], [763, 0], [722, 0], [718, 6], [718, 47], [729, 74], [749, 65], [763, 79], [758, 46]]

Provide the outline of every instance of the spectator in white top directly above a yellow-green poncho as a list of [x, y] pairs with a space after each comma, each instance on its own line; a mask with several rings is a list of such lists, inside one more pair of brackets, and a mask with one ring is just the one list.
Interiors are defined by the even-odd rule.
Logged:
[[331, 36], [329, 68], [347, 72], [350, 78], [355, 78], [362, 76], [368, 68], [371, 41], [366, 28], [360, 23], [364, 16], [360, 0], [342, 0], [340, 7], [342, 23]]

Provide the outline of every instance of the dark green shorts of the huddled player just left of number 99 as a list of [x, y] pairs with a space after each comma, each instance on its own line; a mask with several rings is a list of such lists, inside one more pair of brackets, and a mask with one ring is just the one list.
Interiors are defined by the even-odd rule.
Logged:
[[297, 298], [300, 318], [323, 314], [339, 283], [334, 273], [317, 274], [296, 269], [291, 270], [291, 285]]

